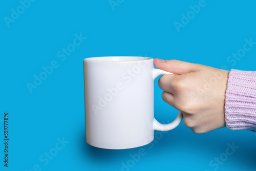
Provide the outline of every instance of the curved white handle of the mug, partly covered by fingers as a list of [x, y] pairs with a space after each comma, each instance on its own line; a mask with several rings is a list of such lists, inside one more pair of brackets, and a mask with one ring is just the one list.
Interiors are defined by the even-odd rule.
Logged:
[[[156, 79], [159, 75], [164, 75], [164, 74], [174, 74], [174, 73], [170, 73], [167, 71], [163, 71], [160, 69], [153, 69], [153, 80]], [[180, 122], [182, 121], [183, 115], [182, 112], [179, 111], [178, 116], [176, 117], [176, 119], [173, 122], [170, 122], [168, 124], [162, 124], [159, 123], [155, 118], [153, 120], [153, 129], [157, 130], [157, 131], [169, 131], [169, 130], [173, 130], [175, 127], [177, 127]]]

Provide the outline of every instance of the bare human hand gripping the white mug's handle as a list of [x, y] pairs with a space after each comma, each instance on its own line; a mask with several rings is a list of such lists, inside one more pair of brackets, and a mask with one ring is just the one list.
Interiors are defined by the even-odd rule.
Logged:
[[225, 127], [224, 104], [228, 71], [179, 60], [154, 59], [154, 65], [176, 75], [163, 75], [162, 98], [181, 111], [195, 133]]

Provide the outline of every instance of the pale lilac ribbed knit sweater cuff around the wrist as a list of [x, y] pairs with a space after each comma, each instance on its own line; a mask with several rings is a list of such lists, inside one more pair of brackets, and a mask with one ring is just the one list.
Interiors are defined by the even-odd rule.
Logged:
[[225, 122], [230, 130], [256, 132], [256, 72], [239, 70], [229, 72]]

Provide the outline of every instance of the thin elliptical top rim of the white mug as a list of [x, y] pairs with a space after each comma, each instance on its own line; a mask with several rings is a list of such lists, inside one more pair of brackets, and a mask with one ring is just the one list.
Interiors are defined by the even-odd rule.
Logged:
[[[120, 60], [120, 58], [126, 58]], [[132, 59], [134, 58], [134, 59]], [[151, 60], [151, 57], [144, 56], [97, 56], [97, 57], [89, 57], [83, 59], [83, 61], [93, 61], [93, 62], [134, 62], [134, 61], [143, 61], [143, 60]]]

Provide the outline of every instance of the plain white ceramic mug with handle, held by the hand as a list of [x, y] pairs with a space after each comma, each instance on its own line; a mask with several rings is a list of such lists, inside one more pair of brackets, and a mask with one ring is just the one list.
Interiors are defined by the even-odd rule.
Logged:
[[154, 79], [172, 73], [155, 69], [153, 60], [136, 56], [83, 60], [88, 144], [138, 147], [153, 141], [154, 130], [172, 130], [181, 122], [181, 112], [168, 124], [154, 118]]

